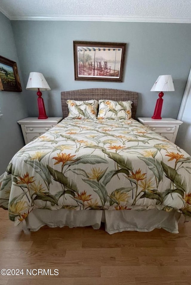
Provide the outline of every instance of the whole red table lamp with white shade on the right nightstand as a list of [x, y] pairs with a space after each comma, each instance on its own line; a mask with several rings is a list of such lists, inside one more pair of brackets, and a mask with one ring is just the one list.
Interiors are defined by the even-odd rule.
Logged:
[[155, 111], [153, 114], [152, 119], [161, 119], [161, 111], [162, 111], [162, 104], [163, 104], [163, 96], [164, 92], [166, 91], [174, 91], [174, 84], [172, 81], [171, 75], [160, 75], [158, 76], [155, 84], [151, 88], [150, 91], [160, 91], [158, 94], [159, 98], [156, 101]]

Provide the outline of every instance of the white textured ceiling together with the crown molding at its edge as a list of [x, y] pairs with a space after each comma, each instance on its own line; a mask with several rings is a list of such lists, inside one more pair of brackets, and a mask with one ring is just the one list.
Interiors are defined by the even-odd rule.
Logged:
[[191, 0], [0, 0], [11, 20], [191, 22]]

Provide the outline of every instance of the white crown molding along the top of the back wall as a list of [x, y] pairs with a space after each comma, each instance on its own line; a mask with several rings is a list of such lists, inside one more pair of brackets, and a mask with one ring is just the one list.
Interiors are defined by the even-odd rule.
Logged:
[[111, 21], [111, 22], [191, 23], [190, 18], [83, 16], [83, 15], [82, 16], [81, 15], [11, 16], [9, 19], [14, 21], [25, 20], [25, 21]]

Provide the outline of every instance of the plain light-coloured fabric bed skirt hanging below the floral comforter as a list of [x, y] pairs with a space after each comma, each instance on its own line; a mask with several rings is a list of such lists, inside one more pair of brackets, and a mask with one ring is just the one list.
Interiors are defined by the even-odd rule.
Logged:
[[105, 211], [105, 210], [47, 210], [34, 209], [26, 218], [23, 227], [30, 231], [37, 231], [44, 225], [49, 227], [87, 227], [99, 229], [101, 222], [105, 223], [105, 231], [109, 234], [123, 231], [150, 232], [153, 229], [165, 229], [171, 233], [178, 233], [178, 221], [181, 214], [175, 210], [171, 212], [148, 210], [144, 212], [134, 210]]

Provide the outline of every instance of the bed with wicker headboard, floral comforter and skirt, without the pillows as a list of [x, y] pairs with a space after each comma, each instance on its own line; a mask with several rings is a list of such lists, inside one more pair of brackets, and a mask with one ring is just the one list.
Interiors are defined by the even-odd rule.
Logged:
[[[67, 119], [67, 100], [132, 101], [130, 119]], [[106, 88], [61, 92], [63, 119], [8, 165], [0, 207], [17, 226], [178, 233], [191, 216], [191, 158], [135, 120], [138, 93]]]

